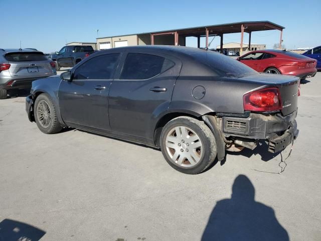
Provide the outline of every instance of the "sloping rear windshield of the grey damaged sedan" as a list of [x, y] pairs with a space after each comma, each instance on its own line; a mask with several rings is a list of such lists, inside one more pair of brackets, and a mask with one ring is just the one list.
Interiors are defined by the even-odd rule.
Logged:
[[241, 62], [213, 51], [192, 55], [199, 62], [209, 66], [221, 77], [241, 78], [256, 73], [255, 70]]

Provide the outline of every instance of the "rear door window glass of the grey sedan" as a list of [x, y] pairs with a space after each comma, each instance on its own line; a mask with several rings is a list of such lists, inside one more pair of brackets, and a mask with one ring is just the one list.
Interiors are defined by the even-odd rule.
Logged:
[[149, 79], [174, 66], [161, 56], [129, 53], [126, 57], [120, 79]]

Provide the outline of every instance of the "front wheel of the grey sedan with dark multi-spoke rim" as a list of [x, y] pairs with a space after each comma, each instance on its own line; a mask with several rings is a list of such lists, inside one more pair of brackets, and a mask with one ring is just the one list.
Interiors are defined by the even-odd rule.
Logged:
[[62, 130], [58, 122], [56, 106], [48, 94], [40, 94], [34, 106], [35, 121], [40, 131], [54, 134]]

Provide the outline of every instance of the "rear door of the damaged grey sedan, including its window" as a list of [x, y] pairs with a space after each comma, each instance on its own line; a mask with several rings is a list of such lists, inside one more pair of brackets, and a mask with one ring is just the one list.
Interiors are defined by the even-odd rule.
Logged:
[[109, 91], [113, 132], [151, 140], [157, 118], [169, 107], [182, 63], [157, 52], [129, 52]]

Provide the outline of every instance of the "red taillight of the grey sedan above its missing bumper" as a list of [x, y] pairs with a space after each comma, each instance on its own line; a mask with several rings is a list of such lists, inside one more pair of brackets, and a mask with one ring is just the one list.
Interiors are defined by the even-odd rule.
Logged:
[[282, 109], [278, 88], [266, 88], [247, 93], [243, 96], [244, 110], [270, 111]]

